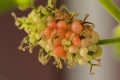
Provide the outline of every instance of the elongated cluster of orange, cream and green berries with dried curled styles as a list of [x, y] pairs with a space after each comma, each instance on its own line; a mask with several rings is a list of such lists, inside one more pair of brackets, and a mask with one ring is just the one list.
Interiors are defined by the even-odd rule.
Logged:
[[[86, 21], [88, 15], [79, 20], [75, 18], [76, 13], [70, 12], [65, 6], [55, 8], [49, 5], [33, 9], [27, 17], [18, 18], [14, 13], [12, 15], [16, 26], [27, 33], [19, 49], [29, 49], [32, 53], [35, 46], [40, 46], [38, 59], [42, 64], [54, 57], [54, 64], [60, 69], [61, 60], [69, 68], [77, 63], [89, 63], [91, 69], [92, 66], [99, 65], [102, 53], [101, 47], [96, 44], [99, 35], [94, 30], [93, 23]], [[98, 61], [98, 64], [93, 64], [92, 60]]]

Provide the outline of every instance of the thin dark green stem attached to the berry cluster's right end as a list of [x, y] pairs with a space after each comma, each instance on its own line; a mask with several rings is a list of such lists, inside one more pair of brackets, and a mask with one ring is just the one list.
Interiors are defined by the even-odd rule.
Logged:
[[117, 43], [120, 42], [120, 37], [119, 38], [111, 38], [111, 39], [103, 39], [100, 40], [97, 45], [106, 45], [106, 44], [113, 44], [113, 43]]

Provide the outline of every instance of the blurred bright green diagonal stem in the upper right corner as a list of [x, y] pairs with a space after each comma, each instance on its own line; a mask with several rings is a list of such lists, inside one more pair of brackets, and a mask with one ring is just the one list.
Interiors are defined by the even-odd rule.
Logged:
[[120, 23], [120, 8], [117, 7], [111, 0], [98, 0], [100, 4]]

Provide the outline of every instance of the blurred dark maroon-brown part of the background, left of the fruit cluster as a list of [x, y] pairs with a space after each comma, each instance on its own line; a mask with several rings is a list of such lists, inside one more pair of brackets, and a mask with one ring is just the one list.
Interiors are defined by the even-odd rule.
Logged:
[[[36, 0], [35, 4], [45, 5], [47, 0]], [[47, 65], [41, 65], [37, 50], [33, 54], [18, 50], [24, 31], [14, 25], [11, 12], [18, 16], [27, 15], [30, 10], [10, 10], [0, 15], [0, 80], [63, 80], [63, 70], [58, 70], [51, 60]]]

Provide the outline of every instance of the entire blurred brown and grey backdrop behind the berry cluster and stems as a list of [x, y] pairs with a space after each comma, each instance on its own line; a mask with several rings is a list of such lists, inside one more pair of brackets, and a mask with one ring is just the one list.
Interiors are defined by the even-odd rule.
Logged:
[[[119, 0], [112, 0], [120, 7]], [[47, 0], [36, 0], [36, 5], [45, 5]], [[118, 24], [112, 16], [97, 2], [97, 0], [58, 0], [58, 4], [65, 4], [72, 11], [78, 12], [79, 18], [90, 14], [89, 21], [95, 24], [101, 39], [111, 38], [112, 30]], [[26, 35], [14, 25], [11, 12], [18, 16], [27, 15], [30, 9], [22, 12], [11, 9], [0, 14], [0, 80], [120, 80], [120, 61], [116, 59], [113, 45], [103, 48], [102, 66], [94, 67], [96, 73], [89, 74], [89, 66], [77, 65], [76, 68], [64, 67], [58, 70], [51, 60], [46, 66], [39, 63], [37, 49], [34, 54], [18, 50], [22, 38]]]

